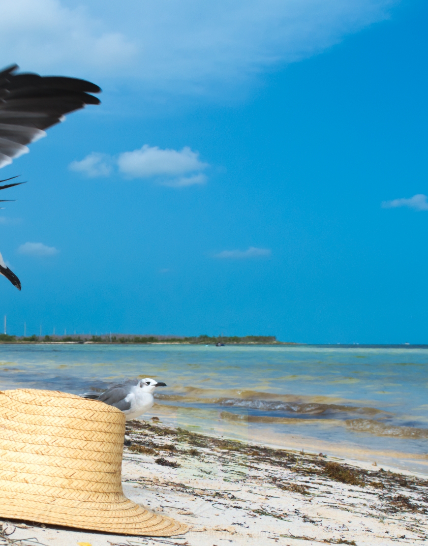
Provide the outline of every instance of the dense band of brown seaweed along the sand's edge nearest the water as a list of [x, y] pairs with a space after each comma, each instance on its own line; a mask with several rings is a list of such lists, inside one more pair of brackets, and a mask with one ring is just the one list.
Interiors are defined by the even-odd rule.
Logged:
[[[170, 446], [174, 446], [174, 455], [177, 458], [189, 455], [198, 456], [198, 458], [206, 459], [208, 462], [212, 459], [212, 462], [216, 461], [216, 464], [223, 466], [233, 464], [235, 467], [246, 467], [247, 472], [254, 471], [255, 474], [258, 474], [264, 468], [263, 472], [267, 472], [266, 477], [272, 485], [280, 489], [299, 492], [302, 495], [308, 494], [308, 489], [315, 486], [316, 482], [313, 482], [313, 480], [317, 480], [317, 483], [326, 483], [333, 480], [346, 485], [377, 490], [376, 492], [370, 492], [370, 494], [377, 495], [379, 498], [382, 497], [383, 501], [388, 504], [388, 509], [395, 507], [400, 508], [401, 511], [425, 513], [423, 511], [426, 508], [415, 505], [413, 499], [413, 502], [405, 501], [405, 498], [408, 497], [402, 495], [401, 490], [403, 488], [406, 488], [406, 491], [412, 492], [414, 495], [419, 495], [418, 500], [428, 504], [428, 498], [425, 498], [425, 496], [420, 497], [427, 490], [428, 482], [426, 480], [414, 476], [405, 477], [402, 474], [384, 471], [382, 468], [369, 471], [348, 465], [345, 462], [328, 460], [324, 455], [302, 454], [302, 452], [298, 453], [287, 449], [274, 449], [267, 446], [247, 444], [238, 440], [205, 436], [186, 429], [173, 429], [153, 422], [136, 420], [128, 422], [127, 434], [132, 435], [133, 443], [136, 442], [148, 449], [173, 451]], [[155, 444], [152, 438], [157, 442], [163, 441], [165, 443]], [[144, 447], [141, 449], [141, 452], [144, 452]], [[278, 470], [282, 468], [285, 471], [293, 472], [292, 476], [299, 478], [293, 480], [289, 474], [286, 479], [284, 479], [285, 476], [278, 478], [275, 467]], [[310, 485], [307, 484], [308, 482], [301, 483], [300, 478], [303, 477], [310, 480]], [[233, 479], [233, 481], [243, 479], [245, 478], [237, 476], [236, 480]], [[367, 494], [369, 494], [368, 491]]]

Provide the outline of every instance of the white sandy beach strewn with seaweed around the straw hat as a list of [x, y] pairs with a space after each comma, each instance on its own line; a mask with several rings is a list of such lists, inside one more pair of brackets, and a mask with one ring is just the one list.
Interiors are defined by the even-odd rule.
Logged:
[[241, 443], [159, 422], [127, 425], [128, 498], [189, 526], [126, 537], [2, 520], [0, 544], [221, 546], [428, 542], [426, 476], [322, 454]]

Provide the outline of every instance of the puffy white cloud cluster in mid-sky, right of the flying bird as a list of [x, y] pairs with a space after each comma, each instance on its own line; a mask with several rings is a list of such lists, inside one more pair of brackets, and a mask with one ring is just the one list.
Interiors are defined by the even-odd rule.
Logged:
[[145, 144], [117, 157], [92, 152], [81, 161], [70, 163], [69, 169], [89, 177], [109, 176], [112, 165], [127, 178], [153, 179], [159, 185], [172, 188], [205, 183], [206, 176], [201, 171], [209, 167], [208, 163], [200, 161], [199, 153], [188, 146], [178, 151]]

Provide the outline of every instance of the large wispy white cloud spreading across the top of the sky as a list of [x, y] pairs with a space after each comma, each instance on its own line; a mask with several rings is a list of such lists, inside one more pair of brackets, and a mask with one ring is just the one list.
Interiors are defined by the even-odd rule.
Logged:
[[[399, 0], [0, 0], [0, 63], [224, 92], [387, 19]], [[224, 86], [224, 83], [227, 85]]]

